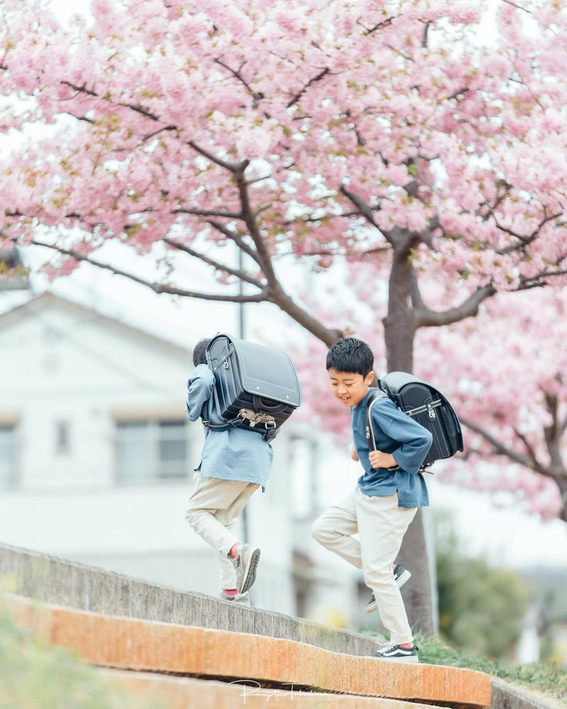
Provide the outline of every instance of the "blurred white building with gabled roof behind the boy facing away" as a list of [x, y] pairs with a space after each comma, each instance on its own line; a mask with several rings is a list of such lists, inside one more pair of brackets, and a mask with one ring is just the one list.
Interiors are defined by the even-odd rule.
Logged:
[[[191, 353], [55, 295], [0, 316], [0, 539], [215, 595], [184, 520], [203, 433], [186, 421]], [[255, 605], [296, 611], [287, 434], [247, 510]]]

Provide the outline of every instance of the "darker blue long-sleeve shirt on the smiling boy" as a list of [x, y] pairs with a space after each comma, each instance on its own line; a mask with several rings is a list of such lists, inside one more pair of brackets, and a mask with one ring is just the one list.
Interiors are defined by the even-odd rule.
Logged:
[[361, 493], [373, 497], [393, 495], [397, 492], [400, 507], [426, 507], [429, 505], [429, 495], [419, 468], [431, 447], [432, 434], [408, 414], [400, 411], [391, 399], [381, 397], [374, 402], [371, 409], [376, 449], [391, 453], [400, 470], [373, 468], [369, 461], [371, 449], [369, 441], [366, 440], [368, 396], [369, 394], [351, 410], [354, 447], [364, 468], [364, 473], [358, 480]]

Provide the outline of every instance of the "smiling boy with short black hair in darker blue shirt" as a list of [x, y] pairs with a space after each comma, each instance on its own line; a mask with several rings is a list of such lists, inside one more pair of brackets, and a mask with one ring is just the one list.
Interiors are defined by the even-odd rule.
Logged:
[[[432, 435], [385, 396], [371, 409], [377, 450], [369, 448], [365, 417], [373, 367], [371, 348], [354, 337], [339, 340], [327, 353], [331, 390], [351, 407], [352, 457], [360, 461], [364, 471], [354, 492], [316, 520], [313, 537], [364, 572], [382, 624], [390, 632], [390, 642], [372, 656], [417, 662], [417, 647], [399, 588], [410, 574], [394, 561], [417, 507], [429, 505], [419, 468]], [[354, 538], [357, 532], [359, 539]]]

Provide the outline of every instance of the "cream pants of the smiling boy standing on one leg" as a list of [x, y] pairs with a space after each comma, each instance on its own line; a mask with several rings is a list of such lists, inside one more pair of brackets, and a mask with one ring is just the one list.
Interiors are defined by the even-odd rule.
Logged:
[[[364, 571], [364, 581], [374, 592], [382, 625], [391, 642], [412, 642], [402, 595], [392, 564], [417, 507], [398, 507], [398, 494], [384, 498], [354, 493], [331, 507], [313, 524], [314, 539]], [[359, 539], [354, 534], [359, 534]], [[359, 541], [360, 540], [360, 541]]]

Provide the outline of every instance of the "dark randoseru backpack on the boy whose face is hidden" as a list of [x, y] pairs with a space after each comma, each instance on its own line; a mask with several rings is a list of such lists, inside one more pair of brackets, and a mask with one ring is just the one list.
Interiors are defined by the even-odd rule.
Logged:
[[206, 358], [215, 376], [215, 409], [223, 422], [203, 418], [210, 429], [237, 426], [271, 439], [301, 405], [296, 367], [281, 350], [219, 334], [208, 343]]

